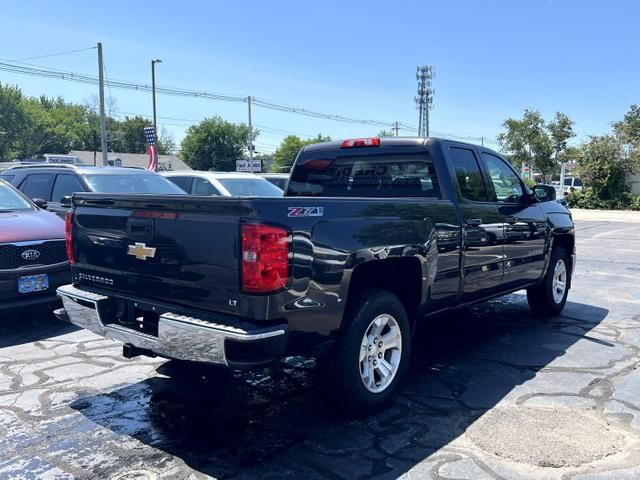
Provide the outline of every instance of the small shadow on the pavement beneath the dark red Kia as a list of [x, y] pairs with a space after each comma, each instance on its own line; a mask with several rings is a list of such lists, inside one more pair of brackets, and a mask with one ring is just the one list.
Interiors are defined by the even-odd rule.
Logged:
[[61, 322], [51, 310], [24, 309], [0, 313], [0, 348], [36, 342], [78, 330]]

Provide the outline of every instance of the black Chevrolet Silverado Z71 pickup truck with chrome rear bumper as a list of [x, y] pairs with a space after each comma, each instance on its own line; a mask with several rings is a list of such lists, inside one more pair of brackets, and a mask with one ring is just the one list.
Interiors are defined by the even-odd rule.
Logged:
[[56, 313], [128, 357], [316, 357], [367, 413], [429, 315], [520, 289], [536, 314], [562, 310], [574, 226], [554, 197], [491, 150], [435, 138], [310, 145], [282, 198], [79, 193]]

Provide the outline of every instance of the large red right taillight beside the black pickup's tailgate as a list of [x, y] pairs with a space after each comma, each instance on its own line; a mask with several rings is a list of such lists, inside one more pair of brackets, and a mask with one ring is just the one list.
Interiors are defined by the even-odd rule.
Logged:
[[284, 228], [242, 225], [242, 290], [267, 293], [284, 288], [289, 281], [290, 247]]

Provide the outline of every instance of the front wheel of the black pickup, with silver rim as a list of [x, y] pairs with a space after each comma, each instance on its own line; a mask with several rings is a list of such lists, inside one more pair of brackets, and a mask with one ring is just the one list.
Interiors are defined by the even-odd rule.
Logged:
[[562, 247], [554, 248], [542, 282], [527, 289], [527, 301], [534, 314], [558, 315], [567, 303], [571, 283], [571, 257]]

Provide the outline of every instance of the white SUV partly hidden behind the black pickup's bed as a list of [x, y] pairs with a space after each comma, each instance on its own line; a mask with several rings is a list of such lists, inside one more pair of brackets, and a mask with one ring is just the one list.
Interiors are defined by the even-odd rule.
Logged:
[[281, 197], [283, 193], [271, 182], [253, 173], [172, 170], [161, 175], [191, 195]]

